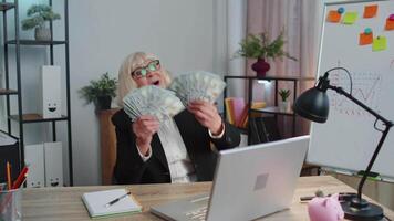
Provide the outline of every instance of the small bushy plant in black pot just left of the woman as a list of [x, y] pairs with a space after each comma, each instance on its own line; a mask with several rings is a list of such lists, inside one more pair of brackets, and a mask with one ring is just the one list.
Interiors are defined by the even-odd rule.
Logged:
[[97, 110], [110, 109], [112, 98], [116, 96], [116, 78], [105, 73], [98, 81], [92, 80], [90, 83], [79, 91], [81, 98], [86, 99], [86, 104], [93, 102]]

